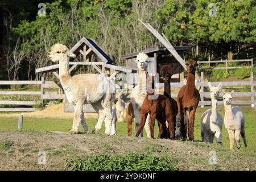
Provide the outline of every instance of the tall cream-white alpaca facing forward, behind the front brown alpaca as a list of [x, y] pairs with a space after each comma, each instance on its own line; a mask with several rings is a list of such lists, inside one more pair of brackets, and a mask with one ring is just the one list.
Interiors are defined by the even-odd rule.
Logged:
[[[147, 94], [147, 64], [150, 62], [149, 57], [141, 52], [136, 58], [137, 67], [139, 69], [139, 84], [131, 91], [131, 104], [133, 104], [135, 115], [135, 134], [139, 129], [139, 123], [141, 119], [141, 106]], [[147, 137], [151, 138], [150, 126], [149, 126], [149, 114], [147, 115], [146, 124], [144, 129], [146, 130]], [[143, 136], [143, 130], [139, 137]]]

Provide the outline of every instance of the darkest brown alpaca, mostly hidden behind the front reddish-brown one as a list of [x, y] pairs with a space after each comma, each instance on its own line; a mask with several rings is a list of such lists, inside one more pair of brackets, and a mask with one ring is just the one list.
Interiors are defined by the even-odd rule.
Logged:
[[[171, 77], [174, 74], [174, 69], [170, 65], [163, 65], [160, 73], [164, 80], [164, 96], [168, 97], [171, 101], [172, 119], [174, 120], [174, 125], [176, 126], [176, 115], [178, 113], [178, 107], [177, 102], [174, 100], [174, 98], [171, 97]], [[170, 135], [170, 133], [168, 133], [168, 135]]]

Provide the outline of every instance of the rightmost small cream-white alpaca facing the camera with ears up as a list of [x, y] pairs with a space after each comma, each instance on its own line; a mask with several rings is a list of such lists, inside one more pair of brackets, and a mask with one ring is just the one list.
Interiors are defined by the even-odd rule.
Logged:
[[225, 90], [222, 90], [225, 116], [224, 116], [224, 125], [229, 133], [230, 140], [230, 149], [233, 149], [234, 139], [236, 139], [237, 148], [241, 147], [240, 144], [240, 134], [243, 138], [243, 143], [247, 147], [245, 139], [245, 116], [243, 115], [240, 107], [232, 107], [232, 95], [234, 90], [229, 93], [225, 93]]

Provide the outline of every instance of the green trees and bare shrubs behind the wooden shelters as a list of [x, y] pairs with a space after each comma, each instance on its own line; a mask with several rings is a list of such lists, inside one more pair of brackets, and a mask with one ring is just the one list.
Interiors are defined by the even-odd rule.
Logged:
[[[39, 3], [1, 1], [1, 50], [6, 56], [2, 77], [39, 79], [35, 68], [52, 64], [47, 51], [53, 44], [71, 48], [83, 36], [94, 39], [114, 64], [123, 65], [121, 55], [160, 45], [138, 19], [163, 32], [175, 46], [192, 46], [186, 59], [255, 57], [253, 0], [57, 0], [46, 1], [46, 16], [38, 16]], [[216, 16], [209, 16], [210, 3], [217, 5]]]

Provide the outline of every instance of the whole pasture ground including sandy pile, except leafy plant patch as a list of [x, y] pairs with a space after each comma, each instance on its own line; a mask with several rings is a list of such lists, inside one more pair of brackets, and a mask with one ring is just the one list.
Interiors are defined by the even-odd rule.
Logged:
[[[23, 113], [23, 131], [17, 131], [19, 113], [0, 113], [0, 170], [67, 170], [68, 161], [86, 159], [90, 154], [126, 155], [131, 152], [154, 156], [171, 155], [179, 170], [256, 170], [256, 112], [241, 106], [245, 114], [248, 147], [229, 150], [229, 137], [222, 130], [222, 145], [200, 142], [200, 117], [209, 107], [198, 108], [195, 142], [127, 137], [126, 122], [117, 123], [117, 136], [106, 136], [104, 126], [97, 134], [69, 134], [72, 113], [61, 113], [60, 105], [46, 110]], [[218, 111], [224, 117], [223, 106]], [[85, 114], [89, 130], [96, 124], [95, 114]], [[80, 131], [82, 127], [80, 126]], [[157, 125], [155, 136], [157, 135]], [[134, 133], [133, 133], [134, 134]], [[242, 141], [241, 141], [242, 142]], [[38, 164], [38, 152], [46, 152], [46, 165]], [[217, 164], [210, 165], [209, 152], [216, 151]]]

